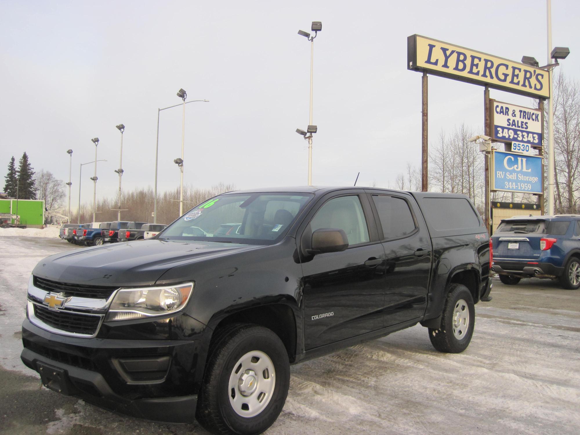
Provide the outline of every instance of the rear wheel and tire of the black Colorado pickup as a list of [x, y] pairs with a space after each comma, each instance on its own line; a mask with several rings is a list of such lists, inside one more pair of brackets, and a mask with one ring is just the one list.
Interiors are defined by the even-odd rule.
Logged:
[[475, 306], [469, 289], [451, 284], [445, 300], [441, 326], [429, 328], [429, 339], [440, 352], [461, 353], [471, 341], [475, 326]]

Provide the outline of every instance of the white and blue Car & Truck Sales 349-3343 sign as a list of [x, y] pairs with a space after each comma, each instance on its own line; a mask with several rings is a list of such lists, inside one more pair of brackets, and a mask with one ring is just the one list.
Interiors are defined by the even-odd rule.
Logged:
[[493, 139], [542, 146], [542, 111], [491, 100]]

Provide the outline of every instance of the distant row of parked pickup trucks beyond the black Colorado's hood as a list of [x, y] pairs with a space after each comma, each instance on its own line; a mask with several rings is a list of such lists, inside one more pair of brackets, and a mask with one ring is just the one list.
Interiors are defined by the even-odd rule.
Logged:
[[150, 238], [165, 227], [164, 224], [128, 221], [91, 222], [81, 225], [67, 223], [61, 226], [59, 237], [76, 245], [99, 246], [104, 243]]

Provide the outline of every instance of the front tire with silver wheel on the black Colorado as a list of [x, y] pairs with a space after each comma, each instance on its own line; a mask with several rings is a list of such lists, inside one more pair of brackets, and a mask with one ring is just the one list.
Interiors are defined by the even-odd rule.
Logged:
[[217, 331], [198, 397], [198, 422], [216, 434], [259, 434], [276, 421], [288, 396], [284, 343], [258, 325]]

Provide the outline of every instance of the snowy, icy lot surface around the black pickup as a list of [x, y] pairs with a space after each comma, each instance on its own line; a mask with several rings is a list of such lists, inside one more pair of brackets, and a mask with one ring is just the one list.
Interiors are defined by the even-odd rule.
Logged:
[[[28, 277], [44, 256], [77, 247], [23, 237], [0, 237], [0, 247], [0, 365], [37, 376], [19, 358]], [[417, 325], [292, 366], [287, 403], [266, 434], [577, 434], [580, 290], [494, 281], [492, 296], [476, 306], [473, 339], [461, 354], [438, 353]], [[60, 397], [41, 393], [38, 406]], [[46, 423], [49, 433], [73, 425], [87, 433], [206, 433], [66, 400]]]

